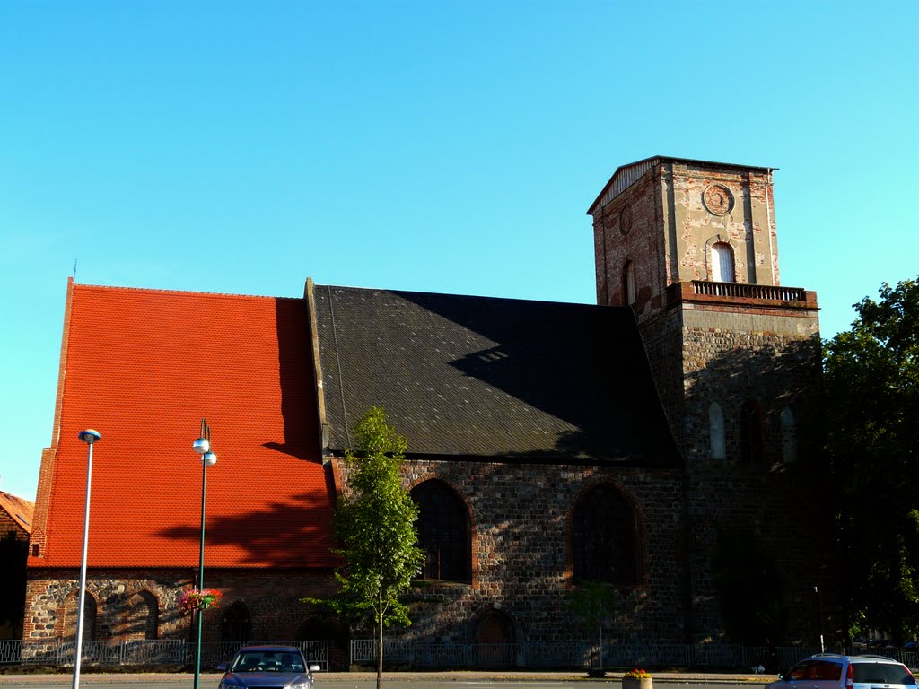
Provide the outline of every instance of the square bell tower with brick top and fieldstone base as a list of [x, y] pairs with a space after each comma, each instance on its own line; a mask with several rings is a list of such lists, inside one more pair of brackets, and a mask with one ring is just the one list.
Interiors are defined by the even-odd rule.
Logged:
[[[793, 598], [823, 583], [800, 564], [812, 544], [788, 537], [820, 322], [816, 294], [779, 281], [774, 172], [656, 156], [619, 167], [587, 211], [597, 303], [634, 312], [685, 461], [694, 641], [721, 628], [709, 567], [720, 529], [749, 527]], [[812, 620], [796, 624], [809, 635]]]

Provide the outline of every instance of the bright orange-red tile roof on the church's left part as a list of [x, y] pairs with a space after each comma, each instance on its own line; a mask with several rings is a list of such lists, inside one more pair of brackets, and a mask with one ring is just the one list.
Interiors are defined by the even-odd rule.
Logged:
[[218, 456], [205, 567], [335, 565], [305, 300], [77, 285], [64, 342], [45, 545], [29, 566], [80, 563], [77, 435], [93, 428], [89, 567], [197, 567], [202, 417]]

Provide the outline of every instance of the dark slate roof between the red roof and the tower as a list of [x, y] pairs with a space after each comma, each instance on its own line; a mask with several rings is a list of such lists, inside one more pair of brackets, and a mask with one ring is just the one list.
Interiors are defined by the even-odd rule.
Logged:
[[382, 405], [410, 454], [680, 465], [629, 309], [315, 286], [328, 446]]

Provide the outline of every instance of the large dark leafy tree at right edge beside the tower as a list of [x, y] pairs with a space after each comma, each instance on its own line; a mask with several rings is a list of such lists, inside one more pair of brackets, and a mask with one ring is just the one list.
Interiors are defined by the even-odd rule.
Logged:
[[885, 283], [855, 310], [851, 330], [824, 343], [818, 478], [849, 631], [899, 641], [919, 632], [919, 285]]

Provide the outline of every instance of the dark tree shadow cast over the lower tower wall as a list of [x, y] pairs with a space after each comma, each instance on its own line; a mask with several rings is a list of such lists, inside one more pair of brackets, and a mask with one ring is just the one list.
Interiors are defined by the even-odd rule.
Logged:
[[[843, 633], [836, 628], [842, 617], [825, 482], [813, 473], [818, 457], [810, 393], [820, 375], [816, 336], [727, 349], [688, 375], [681, 429], [695, 595], [714, 595], [709, 562], [719, 532], [747, 529], [757, 547], [775, 560], [783, 580], [788, 640], [811, 645], [819, 638], [818, 627], [828, 639]], [[720, 552], [720, 557], [731, 556]], [[734, 560], [743, 561], [744, 554]], [[822, 592], [823, 619], [813, 611], [815, 585]], [[714, 609], [708, 614], [714, 615]]]

